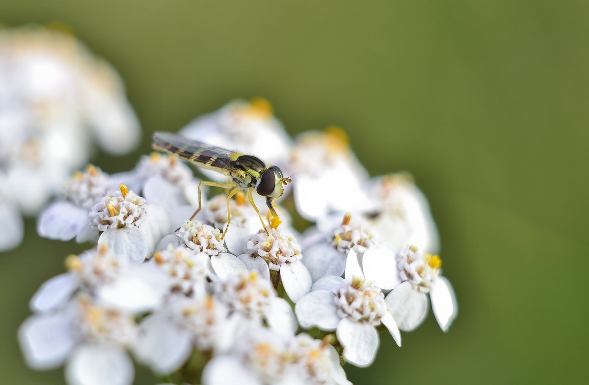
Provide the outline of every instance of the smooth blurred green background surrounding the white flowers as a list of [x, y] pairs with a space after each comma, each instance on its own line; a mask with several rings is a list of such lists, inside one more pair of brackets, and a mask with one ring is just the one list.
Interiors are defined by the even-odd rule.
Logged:
[[[460, 313], [448, 334], [430, 314], [402, 348], [383, 338], [372, 367], [347, 367], [355, 384], [589, 381], [588, 16], [587, 1], [0, 4], [6, 26], [69, 25], [123, 77], [145, 135], [95, 159], [107, 172], [154, 130], [262, 96], [291, 134], [338, 124], [372, 175], [413, 173]], [[16, 328], [84, 247], [29, 220], [0, 255], [2, 383], [63, 382], [25, 367]]]

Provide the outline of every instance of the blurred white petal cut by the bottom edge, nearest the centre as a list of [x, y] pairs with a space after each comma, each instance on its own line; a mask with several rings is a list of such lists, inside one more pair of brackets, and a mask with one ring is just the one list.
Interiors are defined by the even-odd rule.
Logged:
[[235, 357], [214, 357], [204, 367], [203, 385], [262, 385], [252, 371], [247, 370]]

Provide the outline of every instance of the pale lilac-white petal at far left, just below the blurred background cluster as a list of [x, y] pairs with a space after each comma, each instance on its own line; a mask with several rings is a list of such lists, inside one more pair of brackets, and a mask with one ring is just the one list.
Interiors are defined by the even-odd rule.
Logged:
[[45, 238], [69, 241], [87, 223], [88, 210], [64, 200], [49, 205], [41, 213], [37, 222], [37, 232]]

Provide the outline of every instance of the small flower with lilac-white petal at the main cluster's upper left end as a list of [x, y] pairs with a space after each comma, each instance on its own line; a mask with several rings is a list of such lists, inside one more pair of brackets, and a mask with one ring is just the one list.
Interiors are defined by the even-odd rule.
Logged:
[[111, 177], [97, 167], [90, 165], [84, 173], [76, 172], [64, 187], [63, 199], [51, 203], [39, 215], [37, 232], [60, 241], [78, 236], [77, 241], [84, 242], [93, 235], [98, 239], [98, 233], [90, 231], [90, 209], [116, 189]]

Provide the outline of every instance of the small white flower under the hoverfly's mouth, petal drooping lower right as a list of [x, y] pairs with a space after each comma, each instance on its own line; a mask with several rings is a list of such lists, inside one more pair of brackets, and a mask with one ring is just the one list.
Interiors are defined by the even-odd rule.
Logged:
[[258, 269], [264, 276], [271, 278], [272, 275], [264, 266], [268, 264], [270, 270], [279, 272], [284, 291], [293, 302], [310, 291], [313, 284], [311, 275], [301, 262], [299, 242], [292, 234], [284, 232], [280, 227], [270, 228], [269, 235], [260, 231], [250, 235], [244, 251], [246, 254], [239, 258], [250, 270]]

